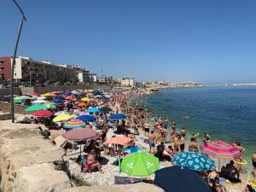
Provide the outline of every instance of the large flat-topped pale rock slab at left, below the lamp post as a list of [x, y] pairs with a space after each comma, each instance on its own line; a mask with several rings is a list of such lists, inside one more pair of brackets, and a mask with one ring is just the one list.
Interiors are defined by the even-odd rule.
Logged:
[[64, 150], [43, 139], [37, 127], [0, 121], [0, 191], [12, 191], [15, 174], [24, 166], [63, 161]]

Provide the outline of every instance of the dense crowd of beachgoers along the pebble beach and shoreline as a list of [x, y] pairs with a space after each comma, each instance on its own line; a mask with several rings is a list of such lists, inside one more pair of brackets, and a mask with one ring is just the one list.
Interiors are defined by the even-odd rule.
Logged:
[[[98, 92], [98, 94], [101, 92]], [[91, 93], [90, 93], [91, 94]], [[81, 93], [79, 96], [70, 96], [70, 99], [65, 99], [65, 93], [56, 93], [56, 96], [47, 97], [49, 102], [53, 101], [55, 98], [64, 98], [63, 102], [56, 105], [56, 108], [51, 110], [54, 113], [65, 111], [71, 115], [79, 116], [82, 114], [94, 115], [96, 120], [93, 122], [86, 122], [86, 128], [95, 129], [101, 133], [101, 137], [96, 140], [86, 141], [84, 143], [84, 155], [79, 155], [78, 163], [81, 165], [81, 172], [90, 172], [96, 169], [102, 172], [101, 157], [102, 151], [103, 155], [125, 155], [123, 151], [124, 148], [137, 146], [133, 140], [126, 145], [109, 145], [104, 144], [107, 140], [109, 131], [113, 131], [115, 135], [123, 134], [126, 137], [134, 138], [138, 136], [143, 139], [144, 143], [148, 143], [148, 152], [154, 154], [159, 158], [160, 161], [172, 161], [173, 155], [183, 152], [183, 151], [195, 151], [199, 152], [198, 140], [199, 134], [192, 134], [188, 139], [187, 130], [182, 127], [180, 131], [177, 131], [177, 125], [175, 120], [168, 119], [166, 112], [163, 113], [163, 117], [156, 117], [154, 109], [150, 108], [139, 108], [137, 102], [130, 101], [134, 96], [143, 96], [143, 91], [130, 90], [110, 90], [108, 96], [96, 97], [96, 94], [91, 94], [89, 102], [81, 102], [80, 98], [84, 96]], [[69, 96], [69, 95], [68, 95]], [[88, 95], [86, 95], [88, 96]], [[129, 102], [130, 101], [130, 102]], [[127, 104], [129, 103], [129, 104]], [[108, 112], [99, 113], [87, 113], [86, 109], [89, 107], [111, 108]], [[109, 116], [114, 113], [125, 113], [125, 119], [111, 120]], [[49, 129], [57, 129], [61, 131], [67, 131], [63, 129], [64, 122], [54, 122], [54, 116], [50, 117], [31, 117], [29, 119], [30, 123], [44, 124], [49, 127]], [[170, 130], [170, 131], [169, 131]], [[212, 139], [209, 134], [205, 133], [203, 137], [203, 142], [208, 143]], [[189, 141], [188, 146], [186, 142]], [[245, 148], [241, 147], [241, 143], [233, 143], [237, 149], [241, 152], [245, 151]], [[239, 160], [238, 160], [239, 161]], [[237, 164], [234, 165], [234, 161], [231, 160], [229, 164], [221, 168], [221, 172], [212, 170], [210, 172], [204, 172], [202, 177], [204, 177], [212, 188], [214, 192], [225, 192], [227, 189], [223, 185], [220, 176], [224, 176], [224, 172], [230, 174], [229, 178], [234, 178], [239, 181], [241, 166]], [[253, 155], [253, 172], [250, 172], [248, 176], [248, 184], [244, 191], [253, 191], [255, 189], [256, 181], [256, 154]]]

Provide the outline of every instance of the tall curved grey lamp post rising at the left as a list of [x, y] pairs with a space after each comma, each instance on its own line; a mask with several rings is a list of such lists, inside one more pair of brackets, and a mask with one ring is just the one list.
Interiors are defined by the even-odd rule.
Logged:
[[15, 123], [15, 102], [14, 102], [14, 73], [15, 73], [15, 58], [16, 58], [16, 52], [20, 40], [20, 32], [23, 26], [24, 20], [26, 21], [26, 16], [24, 15], [22, 9], [20, 8], [20, 5], [16, 2], [16, 0], [13, 0], [17, 8], [20, 10], [21, 14], [21, 20], [20, 20], [20, 27], [17, 33], [16, 37], [16, 42], [15, 42], [15, 51], [14, 51], [14, 56], [12, 60], [12, 65], [11, 65], [11, 77], [10, 77], [10, 102], [11, 102], [11, 119], [12, 123]]

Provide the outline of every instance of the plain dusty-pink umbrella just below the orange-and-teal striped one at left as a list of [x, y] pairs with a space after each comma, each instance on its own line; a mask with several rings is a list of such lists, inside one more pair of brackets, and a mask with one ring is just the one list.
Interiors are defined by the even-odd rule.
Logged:
[[87, 139], [96, 138], [98, 135], [99, 133], [95, 130], [78, 128], [67, 131], [66, 133], [62, 134], [62, 137], [73, 141], [85, 141]]

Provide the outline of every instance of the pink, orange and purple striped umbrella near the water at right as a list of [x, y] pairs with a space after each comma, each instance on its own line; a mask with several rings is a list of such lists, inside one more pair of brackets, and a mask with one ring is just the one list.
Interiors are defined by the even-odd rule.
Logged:
[[202, 154], [207, 154], [218, 159], [233, 160], [236, 157], [241, 156], [239, 150], [223, 141], [203, 143], [201, 144], [200, 149]]

